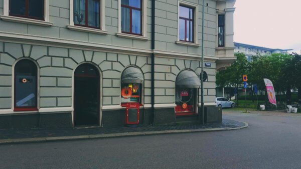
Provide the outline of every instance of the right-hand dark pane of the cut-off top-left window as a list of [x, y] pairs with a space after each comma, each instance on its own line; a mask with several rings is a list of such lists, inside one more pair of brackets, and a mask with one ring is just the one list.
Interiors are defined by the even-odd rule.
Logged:
[[29, 0], [28, 15], [44, 18], [44, 0]]

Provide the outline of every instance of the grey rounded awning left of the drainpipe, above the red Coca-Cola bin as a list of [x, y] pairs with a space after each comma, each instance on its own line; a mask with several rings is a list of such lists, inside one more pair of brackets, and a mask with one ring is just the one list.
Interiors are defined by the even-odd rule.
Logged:
[[122, 83], [143, 83], [143, 74], [136, 67], [127, 67], [121, 74]]

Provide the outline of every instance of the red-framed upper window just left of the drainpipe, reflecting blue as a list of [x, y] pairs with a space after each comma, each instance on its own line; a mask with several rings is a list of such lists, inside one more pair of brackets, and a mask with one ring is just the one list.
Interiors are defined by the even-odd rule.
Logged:
[[121, 0], [121, 32], [141, 35], [141, 0]]

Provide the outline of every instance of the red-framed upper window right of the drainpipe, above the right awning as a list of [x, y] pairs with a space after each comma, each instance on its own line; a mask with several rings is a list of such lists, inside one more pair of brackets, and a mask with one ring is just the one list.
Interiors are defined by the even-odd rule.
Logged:
[[179, 39], [180, 41], [194, 42], [193, 39], [193, 8], [180, 6], [179, 13]]

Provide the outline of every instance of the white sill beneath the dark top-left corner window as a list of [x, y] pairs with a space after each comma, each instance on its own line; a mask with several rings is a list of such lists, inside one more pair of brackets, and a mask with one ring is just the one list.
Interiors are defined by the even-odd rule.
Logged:
[[52, 22], [44, 21], [44, 20], [37, 20], [37, 19], [30, 19], [30, 18], [26, 18], [26, 17], [0, 15], [0, 18], [3, 20], [6, 20], [6, 21], [36, 24], [36, 25], [40, 25], [40, 26], [52, 26]]

